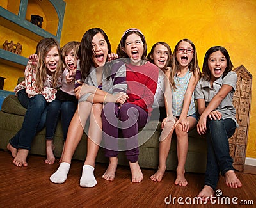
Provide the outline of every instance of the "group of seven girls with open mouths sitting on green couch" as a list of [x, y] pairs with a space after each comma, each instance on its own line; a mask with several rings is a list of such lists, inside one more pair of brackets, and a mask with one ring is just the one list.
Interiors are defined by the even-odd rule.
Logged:
[[[175, 131], [178, 166], [174, 183], [179, 186], [188, 184], [185, 178], [188, 132], [197, 124], [198, 134], [207, 136], [208, 148], [205, 186], [198, 196], [207, 200], [214, 195], [220, 171], [227, 186], [242, 186], [234, 173], [228, 146], [228, 138], [238, 127], [232, 105], [237, 76], [232, 72], [233, 65], [224, 47], [211, 47], [206, 52], [202, 77], [191, 40], [180, 40], [173, 54], [168, 44], [157, 42], [147, 56], [145, 36], [134, 28], [122, 35], [117, 54], [111, 53], [106, 33], [100, 28], [92, 28], [84, 33], [81, 44], [70, 42], [63, 47], [65, 67], [61, 65], [60, 46], [52, 38], [41, 40], [36, 53], [29, 58], [25, 80], [15, 88], [27, 111], [22, 128], [8, 144], [16, 166], [28, 166], [26, 158], [31, 141], [45, 124], [45, 163], [54, 163], [52, 139], [61, 113], [65, 143], [60, 166], [50, 180], [56, 184], [65, 182], [72, 156], [90, 116], [80, 186], [97, 184], [95, 159], [102, 143], [105, 155], [109, 157], [103, 179], [115, 179], [118, 151], [125, 150], [131, 180], [141, 182], [138, 132], [150, 119], [156, 119], [162, 121], [162, 132], [159, 168], [151, 180], [160, 182], [164, 177]], [[78, 76], [80, 72], [81, 77]], [[81, 85], [75, 88], [75, 83]], [[124, 147], [120, 149], [119, 143], [123, 139]]]

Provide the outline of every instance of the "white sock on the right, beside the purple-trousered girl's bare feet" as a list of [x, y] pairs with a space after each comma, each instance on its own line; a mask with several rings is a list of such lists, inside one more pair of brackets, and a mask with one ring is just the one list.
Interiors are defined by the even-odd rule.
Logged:
[[80, 179], [80, 186], [93, 187], [97, 184], [97, 180], [94, 177], [94, 168], [88, 164], [84, 164], [82, 177]]

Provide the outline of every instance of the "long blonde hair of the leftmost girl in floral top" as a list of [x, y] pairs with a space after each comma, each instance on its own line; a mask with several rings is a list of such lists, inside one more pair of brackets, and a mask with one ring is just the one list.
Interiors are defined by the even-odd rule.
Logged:
[[38, 42], [36, 46], [36, 54], [38, 55], [38, 64], [36, 66], [36, 81], [35, 88], [39, 92], [44, 89], [44, 83], [47, 79], [47, 67], [45, 63], [46, 54], [53, 48], [57, 47], [60, 60], [57, 63], [56, 71], [52, 74], [52, 87], [55, 88], [58, 85], [58, 79], [61, 74], [61, 49], [60, 44], [54, 38], [44, 38]]

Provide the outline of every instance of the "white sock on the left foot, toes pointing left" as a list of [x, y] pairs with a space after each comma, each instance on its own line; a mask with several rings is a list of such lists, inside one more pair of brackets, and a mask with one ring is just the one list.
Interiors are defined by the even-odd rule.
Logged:
[[60, 163], [58, 170], [50, 177], [51, 182], [55, 184], [63, 184], [67, 180], [70, 164], [66, 162]]

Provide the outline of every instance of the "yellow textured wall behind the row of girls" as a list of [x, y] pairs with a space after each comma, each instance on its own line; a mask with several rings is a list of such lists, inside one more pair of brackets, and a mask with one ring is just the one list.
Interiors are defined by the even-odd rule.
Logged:
[[[191, 39], [198, 51], [200, 67], [209, 47], [213, 45], [226, 47], [234, 66], [243, 64], [253, 75], [246, 157], [256, 158], [256, 131], [253, 131], [256, 129], [256, 115], [253, 113], [256, 110], [255, 0], [65, 0], [65, 2], [61, 45], [71, 40], [80, 41], [86, 30], [97, 27], [106, 31], [115, 52], [122, 33], [129, 28], [138, 28], [146, 37], [148, 50], [157, 41], [168, 42], [173, 49], [180, 39]], [[4, 84], [5, 87], [7, 86]], [[13, 89], [14, 86], [10, 88]]]

